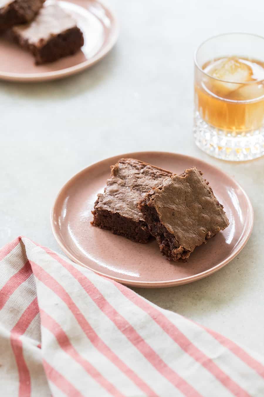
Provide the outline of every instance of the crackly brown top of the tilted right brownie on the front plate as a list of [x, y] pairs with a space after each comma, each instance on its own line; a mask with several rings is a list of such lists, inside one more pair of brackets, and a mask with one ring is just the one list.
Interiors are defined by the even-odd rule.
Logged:
[[197, 168], [188, 168], [166, 179], [147, 197], [160, 222], [189, 251], [229, 225], [223, 206], [201, 175]]

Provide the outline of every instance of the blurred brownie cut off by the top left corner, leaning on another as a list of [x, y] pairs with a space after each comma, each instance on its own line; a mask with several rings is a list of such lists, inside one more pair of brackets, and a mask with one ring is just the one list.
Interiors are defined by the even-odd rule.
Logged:
[[32, 21], [45, 0], [0, 1], [0, 33], [18, 25]]

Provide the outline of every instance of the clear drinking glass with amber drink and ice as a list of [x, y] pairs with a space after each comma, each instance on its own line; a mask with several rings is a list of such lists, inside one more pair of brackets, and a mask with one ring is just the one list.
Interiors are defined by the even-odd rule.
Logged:
[[194, 56], [194, 139], [224, 160], [264, 154], [264, 38], [227, 33]]

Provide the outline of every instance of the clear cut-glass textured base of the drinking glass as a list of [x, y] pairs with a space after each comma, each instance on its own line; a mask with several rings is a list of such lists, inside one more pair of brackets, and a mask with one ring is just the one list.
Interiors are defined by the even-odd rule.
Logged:
[[264, 155], [264, 127], [233, 137], [207, 124], [198, 112], [194, 115], [194, 140], [201, 150], [222, 160], [246, 161]]

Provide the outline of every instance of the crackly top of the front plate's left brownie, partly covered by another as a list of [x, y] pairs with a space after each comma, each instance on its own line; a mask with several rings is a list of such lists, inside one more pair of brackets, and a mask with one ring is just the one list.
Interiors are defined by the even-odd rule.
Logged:
[[111, 166], [104, 193], [98, 195], [97, 209], [118, 212], [135, 222], [144, 220], [138, 203], [143, 195], [154, 186], [161, 185], [169, 171], [151, 166], [133, 158], [121, 158]]

